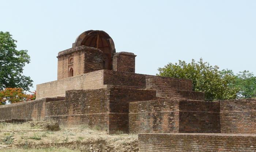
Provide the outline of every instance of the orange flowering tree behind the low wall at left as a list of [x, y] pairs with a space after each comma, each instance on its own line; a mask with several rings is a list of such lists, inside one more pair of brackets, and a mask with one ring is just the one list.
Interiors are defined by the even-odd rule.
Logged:
[[24, 93], [22, 88], [6, 88], [3, 91], [0, 91], [0, 104], [35, 100], [35, 95], [36, 92], [32, 92], [32, 94]]

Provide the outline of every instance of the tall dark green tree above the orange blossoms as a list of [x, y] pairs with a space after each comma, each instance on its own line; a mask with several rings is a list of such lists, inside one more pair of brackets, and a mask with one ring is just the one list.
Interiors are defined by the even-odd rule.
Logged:
[[22, 72], [25, 64], [30, 63], [30, 56], [27, 50], [16, 50], [15, 42], [9, 32], [0, 31], [0, 90], [22, 88], [28, 91], [33, 81]]

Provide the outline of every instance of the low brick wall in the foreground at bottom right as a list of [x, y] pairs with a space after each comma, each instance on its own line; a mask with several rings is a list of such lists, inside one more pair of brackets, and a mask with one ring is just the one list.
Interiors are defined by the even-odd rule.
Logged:
[[140, 152], [256, 151], [256, 135], [170, 133], [139, 134]]

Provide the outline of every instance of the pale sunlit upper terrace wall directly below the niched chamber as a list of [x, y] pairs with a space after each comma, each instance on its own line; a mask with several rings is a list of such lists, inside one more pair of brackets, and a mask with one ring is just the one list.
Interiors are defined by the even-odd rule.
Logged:
[[37, 85], [37, 99], [43, 97], [65, 96], [65, 91], [72, 89], [104, 88], [103, 70], [67, 77]]

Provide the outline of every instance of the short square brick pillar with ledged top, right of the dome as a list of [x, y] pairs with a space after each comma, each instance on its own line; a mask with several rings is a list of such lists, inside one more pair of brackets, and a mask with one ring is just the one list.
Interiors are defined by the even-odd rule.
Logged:
[[113, 71], [135, 73], [135, 57], [130, 52], [117, 52], [113, 56]]

